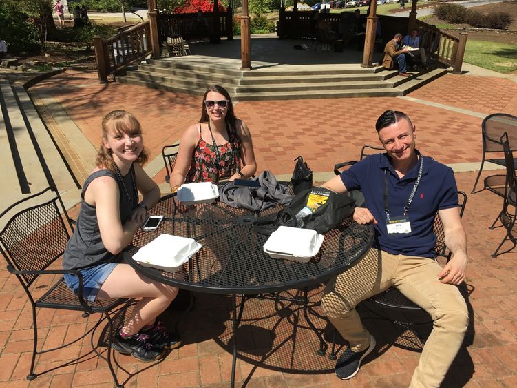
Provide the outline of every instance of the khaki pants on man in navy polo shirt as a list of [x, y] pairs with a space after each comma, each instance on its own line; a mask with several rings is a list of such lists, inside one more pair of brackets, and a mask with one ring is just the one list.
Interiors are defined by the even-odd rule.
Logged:
[[439, 387], [463, 343], [469, 322], [458, 287], [440, 283], [436, 276], [440, 271], [439, 263], [431, 258], [370, 249], [354, 266], [329, 281], [321, 304], [351, 349], [362, 351], [368, 346], [370, 334], [355, 306], [391, 286], [397, 287], [433, 320], [410, 387]]

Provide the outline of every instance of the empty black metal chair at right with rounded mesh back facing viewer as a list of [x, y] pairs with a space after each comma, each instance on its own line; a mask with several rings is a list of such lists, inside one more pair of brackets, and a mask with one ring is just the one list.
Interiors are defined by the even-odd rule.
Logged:
[[[483, 123], [481, 123], [481, 139], [483, 139], [483, 156], [481, 159], [481, 166], [479, 167], [478, 176], [476, 177], [476, 182], [474, 182], [474, 187], [472, 187], [472, 194], [474, 194], [474, 192], [476, 191], [476, 186], [478, 185], [479, 177], [481, 176], [481, 171], [483, 170], [483, 165], [485, 165], [485, 161], [495, 163], [496, 165], [505, 165], [504, 158], [485, 159], [486, 154], [489, 152], [503, 152], [503, 144], [500, 142], [500, 137], [503, 136], [505, 132], [508, 134], [510, 146], [514, 145], [515, 147], [515, 145], [517, 145], [516, 116], [512, 116], [511, 114], [505, 113], [494, 113], [490, 114], [489, 116], [486, 116], [483, 120]], [[514, 159], [514, 164], [516, 163], [517, 162]], [[489, 187], [489, 185], [496, 185], [495, 182], [491, 182], [487, 179], [485, 179], [485, 188]]]

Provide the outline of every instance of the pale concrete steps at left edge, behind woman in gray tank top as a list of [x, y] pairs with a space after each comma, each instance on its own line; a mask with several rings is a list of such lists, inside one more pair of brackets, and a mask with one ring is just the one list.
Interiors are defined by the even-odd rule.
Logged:
[[0, 80], [1, 210], [49, 185], [60, 192], [78, 184], [21, 85]]

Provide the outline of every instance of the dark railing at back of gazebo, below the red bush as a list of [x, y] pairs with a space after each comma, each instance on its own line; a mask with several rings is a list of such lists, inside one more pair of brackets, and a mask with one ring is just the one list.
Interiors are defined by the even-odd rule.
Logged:
[[167, 41], [168, 37], [183, 37], [184, 40], [209, 38], [215, 34], [233, 39], [233, 12], [204, 12], [202, 19], [197, 13], [190, 14], [160, 14], [158, 26], [160, 40]]

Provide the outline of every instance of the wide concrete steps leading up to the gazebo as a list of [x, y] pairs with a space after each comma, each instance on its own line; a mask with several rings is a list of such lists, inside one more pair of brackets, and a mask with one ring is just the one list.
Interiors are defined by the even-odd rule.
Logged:
[[234, 101], [333, 99], [403, 96], [447, 72], [435, 68], [404, 78], [396, 70], [359, 65], [278, 65], [242, 71], [217, 63], [217, 58], [208, 64], [207, 57], [196, 57], [149, 59], [116, 81], [198, 95], [204, 94], [209, 85], [221, 85]]

